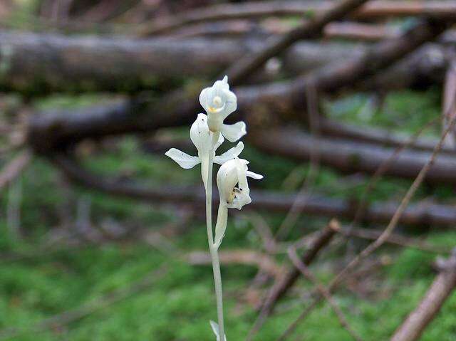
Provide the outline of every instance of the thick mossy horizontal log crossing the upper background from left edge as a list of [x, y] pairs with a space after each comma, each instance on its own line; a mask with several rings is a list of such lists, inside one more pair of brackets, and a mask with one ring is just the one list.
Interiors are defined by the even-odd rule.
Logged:
[[[135, 93], [181, 83], [184, 78], [213, 78], [242, 56], [264, 47], [264, 38], [214, 40], [134, 39], [63, 36], [51, 33], [0, 33], [0, 91], [27, 95], [51, 92]], [[281, 57], [279, 71], [296, 75], [328, 63], [352, 61], [368, 46], [296, 43]], [[398, 88], [442, 82], [450, 48], [429, 44], [386, 71], [368, 88]], [[251, 81], [274, 79], [261, 70]], [[399, 84], [399, 85], [396, 85]]]

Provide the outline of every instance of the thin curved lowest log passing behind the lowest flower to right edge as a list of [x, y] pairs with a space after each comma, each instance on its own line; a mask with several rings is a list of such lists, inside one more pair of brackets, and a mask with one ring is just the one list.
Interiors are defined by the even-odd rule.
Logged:
[[[106, 194], [125, 196], [131, 199], [149, 201], [155, 204], [186, 204], [204, 207], [205, 196], [201, 187], [150, 187], [142, 184], [109, 179], [88, 172], [78, 163], [64, 154], [49, 156], [51, 161], [66, 174], [71, 181], [90, 189], [95, 189]], [[267, 174], [266, 174], [267, 176]], [[303, 214], [315, 216], [338, 217], [353, 219], [356, 214], [356, 203], [350, 200], [328, 198], [317, 194], [305, 196], [305, 199], [296, 198], [297, 194], [281, 194], [252, 190], [252, 204], [246, 209], [261, 209], [271, 212], [288, 212], [293, 204]], [[214, 193], [214, 205], [217, 204], [217, 193]], [[397, 202], [375, 203], [366, 207], [364, 217], [371, 222], [385, 223], [390, 221], [398, 207]], [[400, 224], [432, 226], [453, 226], [456, 221], [456, 209], [452, 206], [423, 202], [410, 204], [400, 216]]]

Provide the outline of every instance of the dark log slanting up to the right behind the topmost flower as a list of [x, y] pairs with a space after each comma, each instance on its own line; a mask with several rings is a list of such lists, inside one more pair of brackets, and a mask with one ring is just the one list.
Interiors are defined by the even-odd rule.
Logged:
[[[445, 27], [445, 23], [425, 21], [400, 38], [378, 43], [343, 63], [335, 61], [291, 81], [235, 88], [238, 110], [230, 118], [243, 117], [252, 127], [278, 120], [304, 120], [304, 94], [309, 86], [321, 93], [335, 93], [353, 86], [432, 40]], [[375, 85], [378, 80], [373, 80], [371, 84]], [[44, 152], [87, 137], [145, 132], [186, 124], [199, 111], [199, 90], [200, 87], [187, 88], [170, 93], [161, 100], [137, 98], [130, 103], [77, 110], [74, 114], [65, 110], [51, 115], [35, 115], [28, 125], [28, 142]]]

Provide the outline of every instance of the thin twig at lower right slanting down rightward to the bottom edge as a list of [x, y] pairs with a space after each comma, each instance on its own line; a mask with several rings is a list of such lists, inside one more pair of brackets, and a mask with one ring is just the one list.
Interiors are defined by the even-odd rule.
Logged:
[[305, 278], [307, 278], [317, 288], [320, 295], [322, 295], [328, 301], [329, 305], [331, 305], [331, 308], [333, 308], [334, 313], [336, 313], [339, 323], [341, 323], [342, 327], [344, 327], [347, 330], [347, 332], [351, 335], [351, 337], [353, 337], [353, 339], [361, 341], [361, 337], [353, 330], [352, 327], [350, 327], [345, 315], [343, 315], [341, 308], [338, 307], [336, 301], [334, 301], [331, 297], [331, 293], [329, 292], [329, 290], [324, 285], [319, 283], [318, 279], [309, 270], [306, 264], [301, 262], [301, 259], [299, 259], [296, 253], [296, 248], [290, 247], [288, 250], [288, 256], [293, 262], [295, 268], [297, 268], [302, 273], [302, 275]]

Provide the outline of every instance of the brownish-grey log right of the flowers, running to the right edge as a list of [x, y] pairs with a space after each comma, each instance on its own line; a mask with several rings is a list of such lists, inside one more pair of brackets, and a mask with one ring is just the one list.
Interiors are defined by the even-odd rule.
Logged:
[[[296, 129], [257, 130], [249, 135], [249, 140], [263, 152], [297, 160], [307, 161], [311, 152], [316, 152], [322, 164], [342, 172], [373, 174], [395, 152], [393, 148], [368, 143], [316, 139]], [[312, 148], [317, 150], [312, 151]], [[430, 152], [405, 150], [390, 164], [385, 174], [413, 179], [429, 157]], [[456, 157], [442, 154], [437, 157], [425, 179], [431, 183], [456, 184], [455, 169]]]

